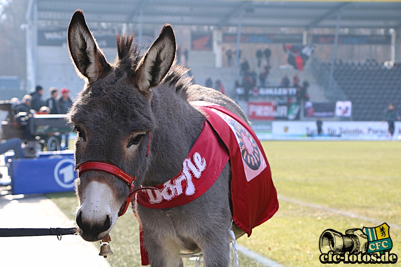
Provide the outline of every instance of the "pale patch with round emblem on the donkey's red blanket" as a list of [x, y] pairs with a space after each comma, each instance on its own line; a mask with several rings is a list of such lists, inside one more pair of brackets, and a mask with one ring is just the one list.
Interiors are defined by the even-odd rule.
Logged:
[[241, 150], [245, 176], [249, 182], [266, 168], [265, 159], [261, 156], [255, 140], [251, 134], [249, 134], [249, 131], [238, 121], [217, 109], [212, 108], [211, 110], [224, 119], [230, 126], [231, 131], [235, 134], [239, 149]]

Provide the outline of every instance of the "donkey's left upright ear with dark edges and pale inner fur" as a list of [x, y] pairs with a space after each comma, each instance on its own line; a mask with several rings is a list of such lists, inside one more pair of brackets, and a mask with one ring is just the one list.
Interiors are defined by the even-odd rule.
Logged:
[[78, 74], [89, 83], [106, 75], [111, 66], [89, 31], [82, 10], [75, 11], [68, 26], [68, 50]]

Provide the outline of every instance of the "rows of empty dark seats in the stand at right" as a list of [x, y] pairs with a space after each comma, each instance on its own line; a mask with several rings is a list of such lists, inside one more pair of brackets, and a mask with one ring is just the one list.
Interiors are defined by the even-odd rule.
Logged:
[[[317, 82], [327, 87], [331, 63], [314, 59], [314, 66], [313, 73]], [[400, 64], [385, 67], [383, 63], [373, 59], [358, 63], [336, 60], [333, 76], [333, 88], [326, 92], [326, 96], [350, 100], [354, 121], [381, 120], [383, 111], [390, 102], [395, 104], [396, 109], [401, 107]]]

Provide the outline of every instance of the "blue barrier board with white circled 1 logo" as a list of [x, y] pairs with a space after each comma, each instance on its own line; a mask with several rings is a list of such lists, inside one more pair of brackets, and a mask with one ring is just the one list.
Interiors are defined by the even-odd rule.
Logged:
[[73, 155], [17, 159], [11, 162], [12, 194], [43, 194], [73, 191]]

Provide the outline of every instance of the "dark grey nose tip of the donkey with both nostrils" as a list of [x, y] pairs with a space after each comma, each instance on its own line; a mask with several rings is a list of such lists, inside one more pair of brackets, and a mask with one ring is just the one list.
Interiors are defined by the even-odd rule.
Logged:
[[[103, 223], [91, 223], [88, 220], [82, 218], [82, 211], [79, 210], [76, 218], [77, 225], [81, 230], [81, 236], [87, 241], [97, 241], [99, 240], [99, 234], [110, 229], [111, 227], [111, 216], [106, 215]], [[101, 238], [101, 237], [100, 237]]]

